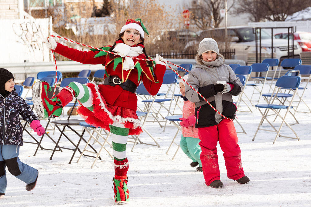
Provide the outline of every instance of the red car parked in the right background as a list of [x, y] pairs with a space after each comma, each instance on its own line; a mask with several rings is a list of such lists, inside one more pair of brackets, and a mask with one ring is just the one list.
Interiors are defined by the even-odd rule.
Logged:
[[[274, 35], [279, 39], [287, 39], [288, 33], [278, 33]], [[290, 34], [290, 39], [292, 35]], [[310, 32], [295, 32], [294, 40], [299, 43], [302, 52], [311, 52], [311, 33]]]

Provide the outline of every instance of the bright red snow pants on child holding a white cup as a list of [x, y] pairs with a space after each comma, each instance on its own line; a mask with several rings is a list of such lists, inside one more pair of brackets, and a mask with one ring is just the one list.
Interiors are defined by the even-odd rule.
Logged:
[[224, 152], [227, 176], [237, 180], [244, 176], [241, 161], [241, 150], [233, 120], [222, 119], [211, 127], [197, 128], [201, 142], [201, 162], [205, 183], [209, 186], [214, 180], [220, 180], [217, 155], [217, 142]]

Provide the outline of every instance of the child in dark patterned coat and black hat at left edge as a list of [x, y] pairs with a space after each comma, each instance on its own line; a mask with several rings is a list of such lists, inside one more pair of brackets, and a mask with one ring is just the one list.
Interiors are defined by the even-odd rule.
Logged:
[[30, 106], [15, 92], [13, 81], [13, 74], [0, 68], [0, 198], [7, 188], [5, 166], [12, 175], [26, 182], [27, 191], [35, 187], [38, 178], [38, 170], [18, 158], [19, 147], [23, 145], [19, 115], [39, 136], [45, 133]]

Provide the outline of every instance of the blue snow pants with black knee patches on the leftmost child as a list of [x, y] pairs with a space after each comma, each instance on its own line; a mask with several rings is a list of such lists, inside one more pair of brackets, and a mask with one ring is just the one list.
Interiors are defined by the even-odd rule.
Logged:
[[0, 193], [5, 193], [7, 177], [5, 167], [16, 178], [30, 184], [38, 177], [38, 170], [21, 162], [18, 145], [0, 145]]

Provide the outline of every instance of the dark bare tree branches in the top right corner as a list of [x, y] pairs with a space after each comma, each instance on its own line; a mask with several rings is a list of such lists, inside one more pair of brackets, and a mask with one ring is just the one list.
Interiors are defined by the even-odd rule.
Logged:
[[250, 14], [252, 21], [285, 21], [287, 16], [311, 6], [311, 0], [240, 0], [234, 14]]

